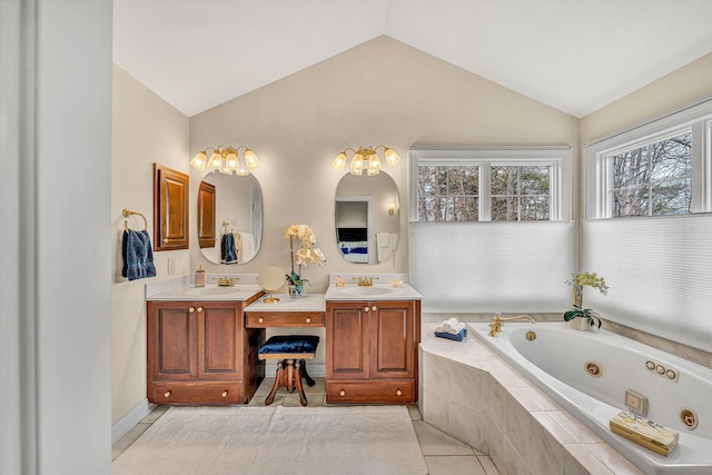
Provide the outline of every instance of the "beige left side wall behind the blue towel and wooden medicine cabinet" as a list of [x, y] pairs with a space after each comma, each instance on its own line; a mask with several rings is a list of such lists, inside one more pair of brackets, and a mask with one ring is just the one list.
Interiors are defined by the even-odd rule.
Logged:
[[[156, 277], [131, 281], [121, 277], [121, 210], [146, 216], [154, 243], [154, 162], [188, 172], [188, 118], [115, 66], [112, 133], [111, 422], [116, 423], [146, 399], [144, 285], [174, 277], [168, 275], [168, 259], [175, 260], [175, 276], [190, 271], [190, 251], [171, 250], [154, 253]], [[137, 216], [128, 224], [144, 228]]]

